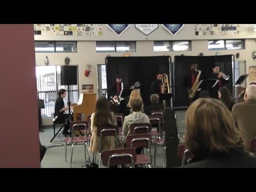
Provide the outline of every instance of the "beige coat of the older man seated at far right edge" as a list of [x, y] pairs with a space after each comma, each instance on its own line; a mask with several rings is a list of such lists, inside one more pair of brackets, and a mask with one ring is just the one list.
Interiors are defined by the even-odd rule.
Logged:
[[248, 151], [250, 140], [256, 137], [256, 100], [248, 99], [246, 102], [235, 104], [232, 115], [243, 134], [245, 149]]

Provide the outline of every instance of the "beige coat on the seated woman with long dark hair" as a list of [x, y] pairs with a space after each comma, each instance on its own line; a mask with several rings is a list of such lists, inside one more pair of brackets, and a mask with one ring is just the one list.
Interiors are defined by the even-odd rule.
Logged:
[[[117, 125], [115, 114], [113, 113], [114, 125]], [[93, 126], [94, 113], [91, 116], [91, 130], [92, 137], [90, 141], [89, 150], [90, 153], [98, 152], [100, 149], [100, 137], [97, 135], [97, 126]], [[110, 122], [109, 122], [110, 123]], [[118, 148], [124, 148], [123, 144], [117, 138]], [[115, 137], [103, 137], [101, 143], [101, 150], [115, 149]]]

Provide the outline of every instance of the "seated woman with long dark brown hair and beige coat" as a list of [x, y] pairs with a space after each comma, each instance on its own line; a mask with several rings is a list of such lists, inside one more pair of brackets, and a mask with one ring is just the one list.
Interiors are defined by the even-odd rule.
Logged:
[[[97, 135], [97, 126], [99, 125], [117, 125], [116, 116], [110, 111], [107, 98], [100, 97], [96, 102], [95, 112], [91, 116], [92, 137], [89, 146], [90, 153], [100, 150], [100, 137]], [[118, 148], [123, 148], [123, 144], [118, 139]], [[101, 150], [115, 149], [115, 137], [103, 137]]]

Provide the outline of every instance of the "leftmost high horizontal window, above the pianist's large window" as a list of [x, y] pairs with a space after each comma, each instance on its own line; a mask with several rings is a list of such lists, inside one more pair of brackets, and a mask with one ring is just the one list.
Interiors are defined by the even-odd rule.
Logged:
[[35, 42], [36, 53], [76, 53], [76, 42]]

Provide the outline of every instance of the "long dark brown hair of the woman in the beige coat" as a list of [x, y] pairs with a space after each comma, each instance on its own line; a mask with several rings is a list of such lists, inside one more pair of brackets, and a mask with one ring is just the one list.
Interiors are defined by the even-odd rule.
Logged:
[[100, 97], [96, 102], [93, 123], [95, 126], [107, 125], [109, 121], [113, 124], [108, 99], [106, 97]]

